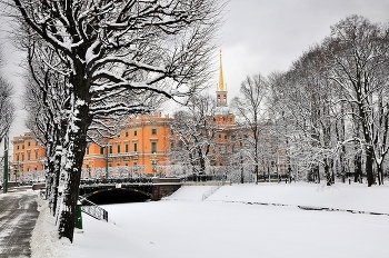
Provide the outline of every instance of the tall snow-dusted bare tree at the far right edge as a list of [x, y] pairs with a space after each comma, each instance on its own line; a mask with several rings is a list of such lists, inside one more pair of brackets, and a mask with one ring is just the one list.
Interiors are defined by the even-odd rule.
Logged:
[[[361, 125], [368, 186], [375, 182], [373, 162], [382, 173], [388, 152], [389, 30], [360, 16], [331, 27], [325, 41], [329, 77], [341, 88], [343, 101], [353, 107], [352, 119]], [[379, 176], [381, 177], [381, 176]], [[382, 177], [381, 177], [382, 178]]]

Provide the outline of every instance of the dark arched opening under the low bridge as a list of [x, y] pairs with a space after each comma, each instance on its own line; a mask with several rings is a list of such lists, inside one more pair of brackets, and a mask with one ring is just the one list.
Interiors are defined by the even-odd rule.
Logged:
[[149, 192], [134, 188], [104, 188], [86, 194], [83, 198], [97, 204], [141, 202], [151, 199]]

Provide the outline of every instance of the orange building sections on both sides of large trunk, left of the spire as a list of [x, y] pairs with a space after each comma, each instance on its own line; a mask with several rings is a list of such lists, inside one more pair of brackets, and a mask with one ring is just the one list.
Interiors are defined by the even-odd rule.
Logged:
[[[106, 140], [101, 146], [88, 145], [83, 159], [82, 177], [162, 173], [168, 163], [169, 116], [161, 113], [131, 118], [121, 125], [118, 138]], [[11, 180], [18, 173], [20, 180], [39, 180], [44, 175], [44, 150], [32, 138], [31, 132], [14, 137]]]

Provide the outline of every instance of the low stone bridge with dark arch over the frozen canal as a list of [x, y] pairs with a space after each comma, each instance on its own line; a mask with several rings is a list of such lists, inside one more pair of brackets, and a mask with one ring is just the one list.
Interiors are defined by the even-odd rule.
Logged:
[[92, 182], [81, 180], [80, 196], [94, 204], [160, 200], [181, 187], [179, 178], [142, 178]]

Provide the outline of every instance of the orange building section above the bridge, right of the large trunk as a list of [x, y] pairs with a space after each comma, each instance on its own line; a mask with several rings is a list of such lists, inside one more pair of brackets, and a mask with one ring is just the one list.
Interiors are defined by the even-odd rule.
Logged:
[[120, 177], [133, 172], [152, 176], [163, 172], [158, 168], [168, 163], [169, 122], [169, 116], [160, 112], [127, 120], [121, 125], [118, 138], [106, 140], [100, 146], [88, 146], [83, 177]]

